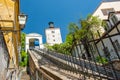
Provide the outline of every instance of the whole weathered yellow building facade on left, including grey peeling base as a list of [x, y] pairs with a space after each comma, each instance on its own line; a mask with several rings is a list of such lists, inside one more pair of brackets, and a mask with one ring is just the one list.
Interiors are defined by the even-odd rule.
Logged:
[[[0, 80], [13, 80], [17, 75], [19, 61], [18, 55], [20, 54], [21, 47], [21, 39], [20, 32], [21, 27], [19, 25], [18, 16], [20, 15], [20, 1], [19, 0], [0, 0], [0, 32], [3, 34], [4, 42], [0, 41], [1, 44], [6, 44], [6, 48], [4, 46], [0, 49], [0, 71], [2, 69], [2, 78]], [[0, 39], [2, 37], [0, 36]], [[7, 54], [7, 57], [5, 54]], [[4, 54], [4, 55], [3, 55]], [[9, 60], [7, 63], [7, 60]], [[3, 63], [4, 62], [4, 63]], [[7, 71], [7, 73], [5, 73]], [[13, 74], [16, 75], [13, 75]]]

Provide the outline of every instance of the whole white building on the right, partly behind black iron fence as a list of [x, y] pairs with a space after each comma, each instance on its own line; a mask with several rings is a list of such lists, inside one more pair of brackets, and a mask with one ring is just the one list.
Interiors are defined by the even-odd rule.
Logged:
[[[105, 0], [101, 2], [101, 4], [93, 13], [93, 16], [98, 16], [100, 19], [107, 21], [107, 31], [103, 29], [104, 34], [101, 37], [118, 34], [118, 31], [120, 30], [120, 0]], [[116, 26], [118, 28], [118, 31], [116, 29]], [[117, 53], [120, 55], [120, 50], [118, 49], [120, 48], [120, 35], [111, 36], [110, 38], [117, 48]], [[104, 38], [102, 41], [105, 45], [105, 48], [103, 47], [101, 41], [98, 41], [97, 43], [100, 54], [104, 57], [107, 57], [106, 51], [108, 51], [109, 56], [112, 60], [118, 58], [110, 39]]]

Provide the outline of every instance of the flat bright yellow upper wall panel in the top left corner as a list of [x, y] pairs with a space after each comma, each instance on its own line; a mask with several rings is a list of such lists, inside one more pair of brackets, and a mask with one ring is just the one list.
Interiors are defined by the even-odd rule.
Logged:
[[[0, 20], [14, 20], [14, 2], [12, 0], [0, 0]], [[1, 22], [1, 27], [13, 27], [11, 22]]]

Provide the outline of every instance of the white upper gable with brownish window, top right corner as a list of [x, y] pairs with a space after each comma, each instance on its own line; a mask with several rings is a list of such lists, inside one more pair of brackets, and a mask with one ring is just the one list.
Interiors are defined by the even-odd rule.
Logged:
[[108, 19], [109, 12], [120, 11], [120, 0], [104, 0], [94, 11], [93, 16], [99, 16], [100, 19]]

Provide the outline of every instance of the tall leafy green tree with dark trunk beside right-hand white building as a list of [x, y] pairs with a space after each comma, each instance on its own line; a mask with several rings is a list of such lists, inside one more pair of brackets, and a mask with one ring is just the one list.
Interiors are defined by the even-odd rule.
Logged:
[[[98, 38], [97, 30], [99, 30], [99, 32], [102, 33], [102, 30], [101, 30], [103, 29], [102, 24], [103, 23], [101, 19], [99, 19], [97, 16], [92, 16], [92, 15], [88, 15], [86, 19], [81, 19], [80, 27], [77, 26], [75, 23], [70, 23], [68, 26], [68, 29], [69, 29], [69, 34], [72, 35], [71, 36], [72, 45], [74, 46], [74, 44], [81, 41], [81, 43], [83, 44], [86, 50], [87, 56], [91, 57], [89, 53], [88, 44], [86, 43], [91, 38], [91, 32], [93, 33], [95, 38]], [[67, 40], [70, 41], [69, 39]]]

